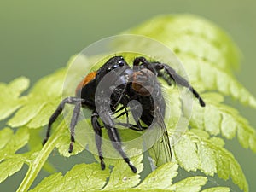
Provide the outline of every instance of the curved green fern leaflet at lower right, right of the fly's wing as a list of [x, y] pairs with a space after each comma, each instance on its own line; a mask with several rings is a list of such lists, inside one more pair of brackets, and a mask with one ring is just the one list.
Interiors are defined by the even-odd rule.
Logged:
[[188, 172], [199, 169], [210, 176], [217, 173], [224, 180], [232, 178], [233, 183], [248, 191], [246, 177], [233, 154], [215, 143], [212, 144], [212, 140], [200, 137], [201, 132], [198, 136], [198, 133], [198, 130], [191, 130], [174, 145], [178, 164]]

